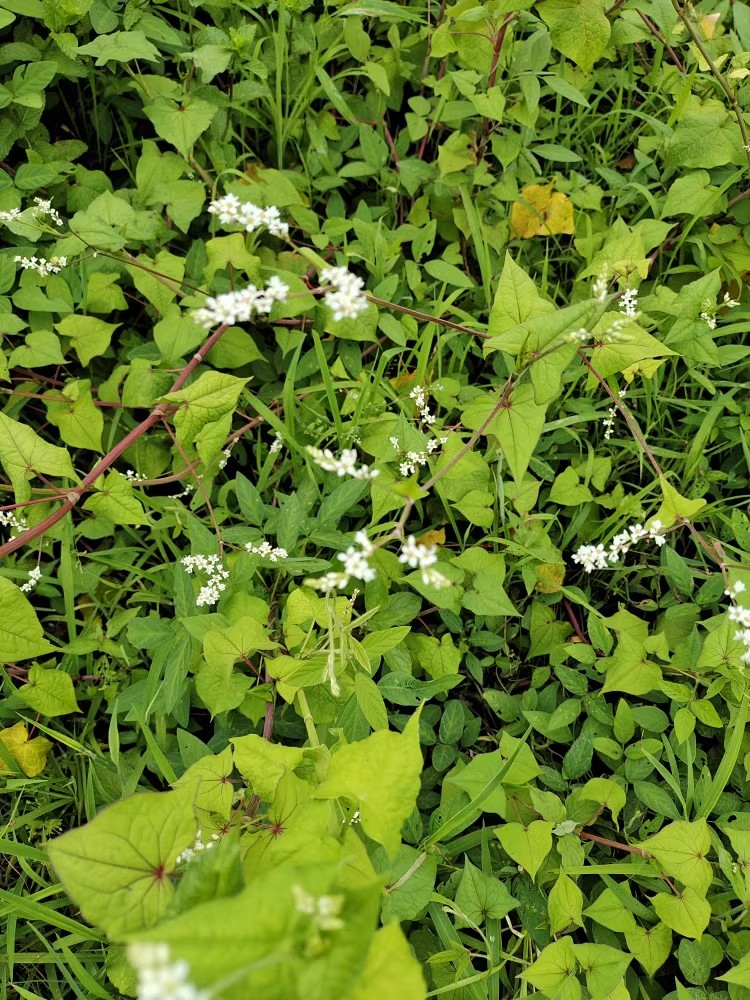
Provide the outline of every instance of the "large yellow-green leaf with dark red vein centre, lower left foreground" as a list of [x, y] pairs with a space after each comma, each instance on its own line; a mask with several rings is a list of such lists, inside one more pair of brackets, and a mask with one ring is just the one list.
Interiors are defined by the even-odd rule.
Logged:
[[195, 839], [192, 798], [190, 788], [132, 795], [48, 843], [60, 881], [89, 923], [121, 938], [164, 916], [177, 855]]

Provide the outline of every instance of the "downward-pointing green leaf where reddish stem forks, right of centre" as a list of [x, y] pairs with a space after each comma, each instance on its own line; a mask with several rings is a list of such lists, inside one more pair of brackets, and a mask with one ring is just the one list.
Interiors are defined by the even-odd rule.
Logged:
[[[469, 404], [462, 421], [470, 430], [481, 427], [497, 405], [497, 398], [483, 396]], [[483, 433], [494, 434], [500, 442], [511, 474], [520, 483], [542, 435], [547, 408], [534, 399], [530, 385], [522, 384], [512, 393], [508, 406], [492, 418]]]

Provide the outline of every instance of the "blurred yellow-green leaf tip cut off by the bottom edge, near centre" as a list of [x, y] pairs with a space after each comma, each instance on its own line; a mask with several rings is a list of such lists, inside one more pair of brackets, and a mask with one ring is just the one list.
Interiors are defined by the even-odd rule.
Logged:
[[427, 988], [419, 962], [398, 924], [376, 932], [362, 977], [351, 1000], [424, 1000]]

